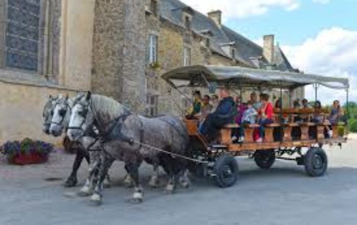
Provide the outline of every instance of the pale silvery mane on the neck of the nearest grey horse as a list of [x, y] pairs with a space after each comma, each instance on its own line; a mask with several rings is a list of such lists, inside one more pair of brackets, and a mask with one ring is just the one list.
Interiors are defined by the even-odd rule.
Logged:
[[91, 101], [92, 109], [95, 111], [96, 116], [99, 117], [98, 119], [106, 120], [103, 122], [110, 122], [129, 110], [114, 99], [102, 95], [92, 95]]

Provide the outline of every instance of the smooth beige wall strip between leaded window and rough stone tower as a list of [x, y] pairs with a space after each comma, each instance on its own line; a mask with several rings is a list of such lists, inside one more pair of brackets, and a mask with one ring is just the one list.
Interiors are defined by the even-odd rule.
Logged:
[[59, 84], [90, 89], [94, 0], [62, 0]]

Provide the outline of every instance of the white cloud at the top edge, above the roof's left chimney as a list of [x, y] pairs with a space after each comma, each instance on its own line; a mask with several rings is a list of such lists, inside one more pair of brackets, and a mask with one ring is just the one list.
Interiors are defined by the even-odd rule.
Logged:
[[[207, 13], [220, 9], [223, 19], [246, 18], [267, 13], [272, 8], [293, 11], [300, 7], [301, 0], [181, 0], [192, 8]], [[316, 0], [315, 0], [316, 1]], [[319, 0], [323, 1], [323, 0]], [[326, 0], [325, 0], [326, 1]]]

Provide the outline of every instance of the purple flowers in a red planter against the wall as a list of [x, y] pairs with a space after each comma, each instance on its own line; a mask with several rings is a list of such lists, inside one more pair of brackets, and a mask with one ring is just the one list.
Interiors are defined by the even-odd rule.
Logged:
[[8, 162], [16, 165], [44, 163], [48, 154], [53, 150], [52, 144], [24, 139], [21, 142], [7, 142], [0, 147], [0, 151], [7, 156]]

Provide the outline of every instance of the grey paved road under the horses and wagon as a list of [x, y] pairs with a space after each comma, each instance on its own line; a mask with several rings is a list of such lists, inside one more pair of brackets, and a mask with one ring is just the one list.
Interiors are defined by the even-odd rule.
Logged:
[[[327, 148], [329, 170], [311, 178], [292, 162], [277, 162], [267, 171], [239, 159], [239, 184], [219, 189], [193, 181], [189, 190], [166, 195], [145, 188], [145, 201], [129, 202], [132, 190], [122, 187], [122, 164], [111, 170], [114, 187], [105, 191], [101, 207], [88, 198], [65, 197], [61, 186], [73, 155], [52, 154], [49, 163], [9, 166], [0, 162], [0, 224], [357, 224], [357, 136], [341, 150]], [[86, 167], [80, 171], [83, 181]], [[143, 180], [149, 168], [143, 167]], [[62, 178], [46, 181], [46, 178]]]

